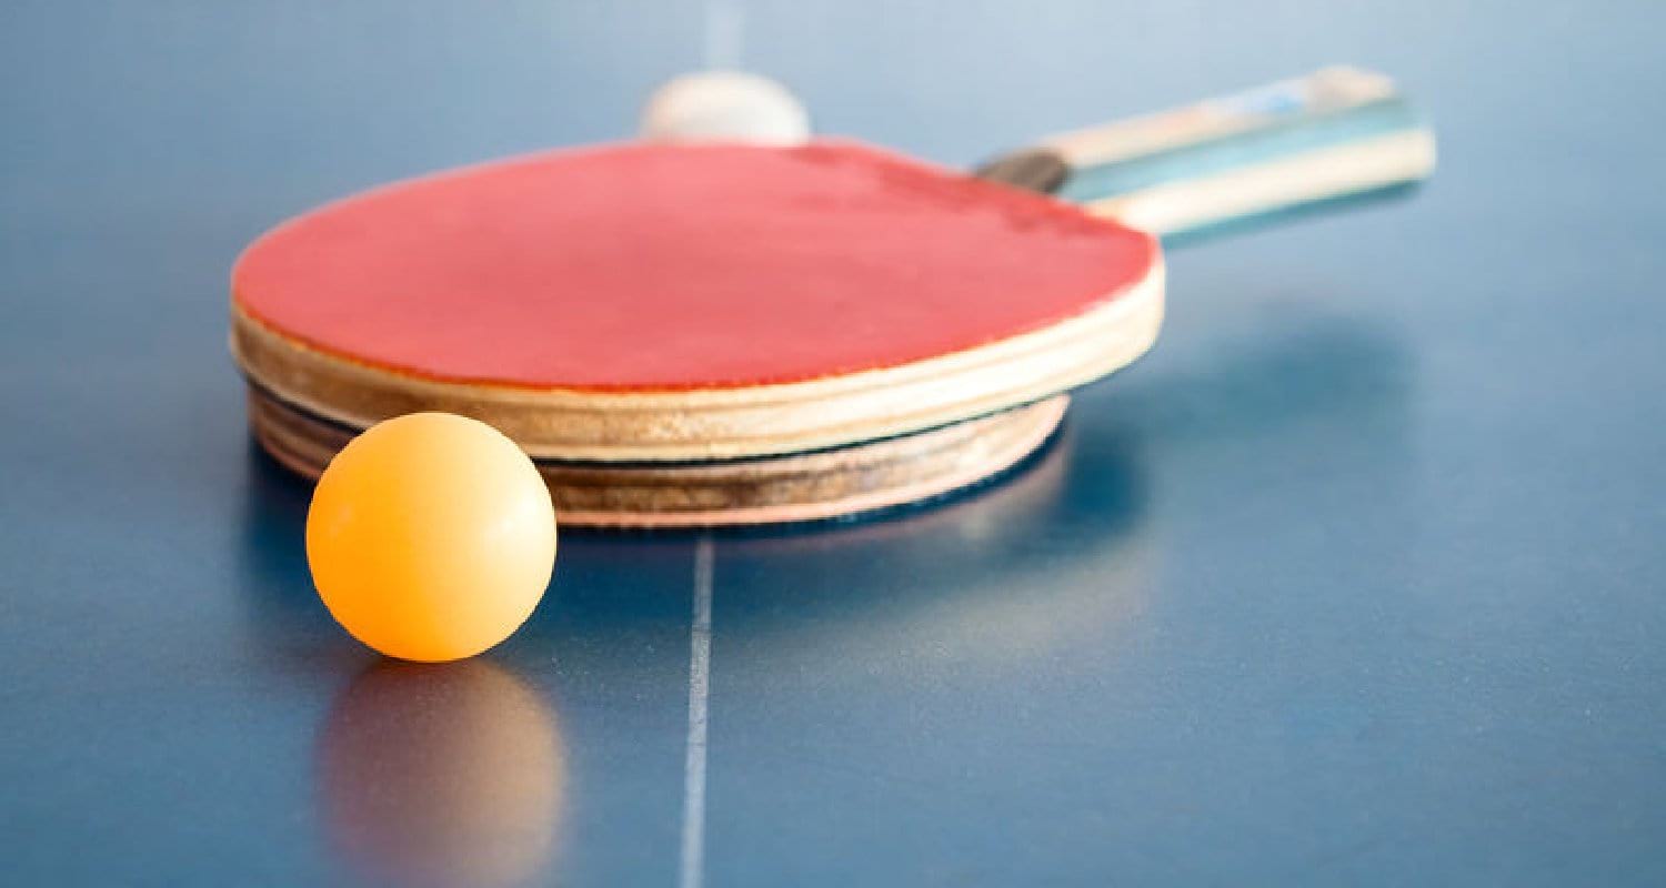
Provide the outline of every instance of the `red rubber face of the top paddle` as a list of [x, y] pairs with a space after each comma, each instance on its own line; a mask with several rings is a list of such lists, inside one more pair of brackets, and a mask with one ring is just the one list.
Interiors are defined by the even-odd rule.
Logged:
[[1045, 328], [1156, 242], [853, 142], [611, 145], [377, 188], [232, 273], [278, 333], [425, 378], [686, 390], [898, 367]]

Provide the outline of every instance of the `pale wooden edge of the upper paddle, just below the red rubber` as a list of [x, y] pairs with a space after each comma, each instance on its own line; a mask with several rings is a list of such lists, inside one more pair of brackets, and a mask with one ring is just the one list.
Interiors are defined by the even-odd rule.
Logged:
[[421, 410], [486, 422], [541, 460], [690, 461], [795, 455], [938, 428], [1051, 398], [1156, 342], [1163, 265], [1046, 328], [908, 365], [800, 383], [591, 392], [420, 378], [303, 345], [232, 300], [245, 375], [315, 417], [368, 428]]

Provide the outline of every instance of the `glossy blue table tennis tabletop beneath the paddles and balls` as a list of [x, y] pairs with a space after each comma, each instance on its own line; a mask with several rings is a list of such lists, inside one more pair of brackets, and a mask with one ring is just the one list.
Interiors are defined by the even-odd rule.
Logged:
[[568, 533], [510, 643], [402, 670], [247, 440], [230, 262], [630, 132], [700, 8], [8, 3], [0, 881], [1666, 881], [1661, 7], [880, 10], [751, 8], [745, 58], [951, 163], [1353, 62], [1443, 167], [1176, 252], [1156, 352], [1003, 485]]

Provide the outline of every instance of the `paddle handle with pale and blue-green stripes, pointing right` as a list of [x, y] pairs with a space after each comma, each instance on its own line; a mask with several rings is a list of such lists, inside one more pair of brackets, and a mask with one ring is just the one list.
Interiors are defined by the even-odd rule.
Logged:
[[1048, 137], [978, 175], [1168, 238], [1381, 197], [1433, 170], [1434, 133], [1393, 80], [1334, 67]]

